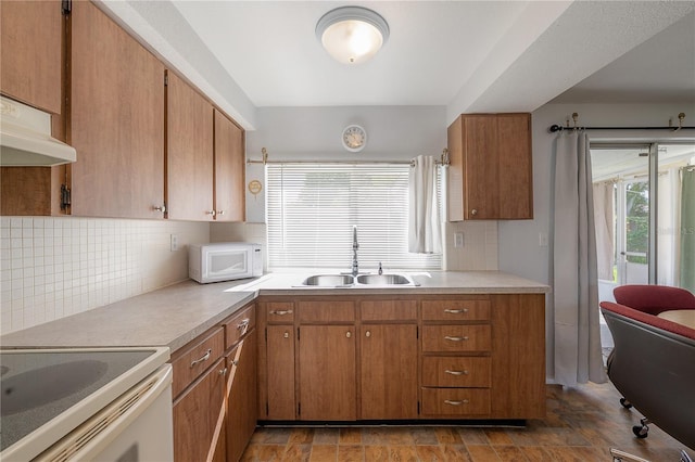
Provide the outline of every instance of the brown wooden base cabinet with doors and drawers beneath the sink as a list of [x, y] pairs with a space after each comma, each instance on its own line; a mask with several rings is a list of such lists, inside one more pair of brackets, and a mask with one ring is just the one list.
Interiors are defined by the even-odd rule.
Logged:
[[544, 294], [267, 296], [258, 305], [261, 420], [545, 416]]

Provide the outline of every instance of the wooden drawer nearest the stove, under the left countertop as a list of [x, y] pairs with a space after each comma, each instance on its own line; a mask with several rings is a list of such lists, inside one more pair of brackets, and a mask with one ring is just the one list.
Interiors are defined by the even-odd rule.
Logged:
[[225, 331], [223, 328], [215, 328], [182, 347], [179, 350], [180, 354], [177, 351], [172, 360], [174, 370], [172, 396], [178, 396], [200, 374], [222, 358], [224, 349]]

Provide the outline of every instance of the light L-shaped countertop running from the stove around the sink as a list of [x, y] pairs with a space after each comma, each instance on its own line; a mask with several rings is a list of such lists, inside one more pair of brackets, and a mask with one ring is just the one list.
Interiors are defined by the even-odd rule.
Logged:
[[89, 311], [0, 337], [3, 348], [167, 346], [180, 348], [258, 295], [383, 294], [528, 294], [549, 287], [501, 271], [432, 271], [400, 273], [419, 286], [298, 287], [312, 274], [340, 271], [274, 272], [244, 281], [198, 284], [186, 281]]

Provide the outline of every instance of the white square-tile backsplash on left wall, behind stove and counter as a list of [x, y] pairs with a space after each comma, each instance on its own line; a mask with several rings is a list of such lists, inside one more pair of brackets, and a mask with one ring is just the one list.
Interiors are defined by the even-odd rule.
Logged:
[[[0, 220], [0, 334], [186, 280], [187, 244], [210, 240], [206, 222]], [[177, 251], [172, 251], [172, 234]]]

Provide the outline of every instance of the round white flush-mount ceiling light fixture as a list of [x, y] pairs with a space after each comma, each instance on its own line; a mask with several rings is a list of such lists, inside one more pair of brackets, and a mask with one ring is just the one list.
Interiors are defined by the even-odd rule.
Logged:
[[366, 8], [341, 7], [318, 20], [316, 38], [337, 61], [357, 64], [369, 60], [387, 42], [389, 24]]

